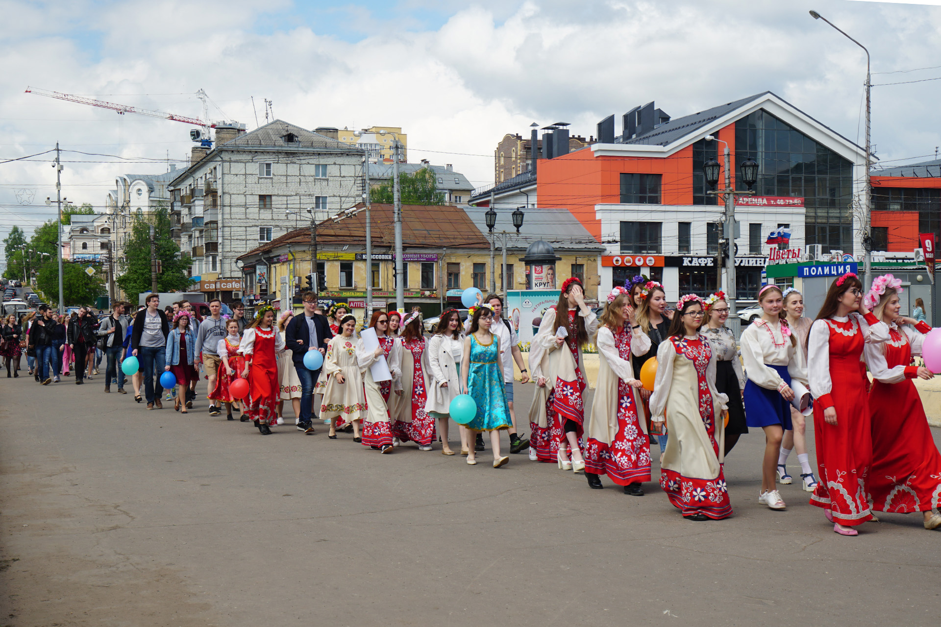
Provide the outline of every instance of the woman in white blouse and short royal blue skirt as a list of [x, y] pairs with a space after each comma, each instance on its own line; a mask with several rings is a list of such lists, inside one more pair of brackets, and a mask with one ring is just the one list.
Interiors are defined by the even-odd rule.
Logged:
[[776, 285], [758, 290], [761, 318], [742, 332], [742, 361], [748, 381], [745, 383], [745, 422], [765, 432], [765, 453], [761, 462], [761, 490], [758, 503], [771, 509], [785, 509], [775, 485], [777, 456], [781, 452], [784, 431], [793, 429], [790, 401], [794, 399], [792, 381], [807, 384], [804, 352], [791, 333], [788, 321], [781, 319], [784, 297]]

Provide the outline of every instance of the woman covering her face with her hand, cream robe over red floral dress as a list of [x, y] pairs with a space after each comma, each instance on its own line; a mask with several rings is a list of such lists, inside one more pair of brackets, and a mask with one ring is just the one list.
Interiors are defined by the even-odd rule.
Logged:
[[536, 384], [530, 407], [530, 448], [536, 460], [558, 462], [559, 468], [576, 473], [585, 467], [582, 435], [587, 382], [582, 347], [597, 330], [598, 318], [585, 305], [582, 281], [572, 277], [562, 284], [559, 302], [542, 317], [530, 346]]

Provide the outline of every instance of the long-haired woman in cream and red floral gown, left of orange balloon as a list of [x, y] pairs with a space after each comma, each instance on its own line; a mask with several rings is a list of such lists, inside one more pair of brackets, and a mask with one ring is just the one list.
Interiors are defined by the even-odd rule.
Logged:
[[634, 378], [630, 357], [644, 354], [650, 338], [634, 323], [630, 291], [614, 288], [598, 328], [598, 387], [588, 418], [585, 443], [585, 478], [600, 489], [599, 475], [607, 475], [624, 494], [643, 496], [641, 484], [650, 480], [650, 440], [646, 420], [638, 411], [641, 382]]

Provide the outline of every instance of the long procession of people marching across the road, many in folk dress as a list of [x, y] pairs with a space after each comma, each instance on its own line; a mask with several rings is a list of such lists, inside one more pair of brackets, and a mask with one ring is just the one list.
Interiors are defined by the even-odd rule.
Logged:
[[[130, 379], [134, 400], [148, 410], [162, 409], [167, 393], [183, 414], [198, 398], [201, 369], [210, 415], [224, 410], [227, 420], [268, 435], [285, 424], [290, 406], [298, 431], [314, 433], [316, 418], [329, 439], [352, 433], [383, 454], [411, 442], [422, 451], [440, 443], [442, 455], [455, 455], [454, 421], [466, 462], [477, 464], [486, 432], [499, 468], [509, 462], [507, 431], [511, 454], [528, 450], [534, 462], [583, 473], [592, 489], [606, 476], [641, 496], [658, 480], [692, 521], [732, 514], [726, 458], [749, 429], [760, 430], [759, 503], [786, 509], [777, 485], [794, 480], [787, 462], [796, 451], [810, 503], [835, 532], [855, 536], [858, 525], [876, 520], [873, 511], [921, 512], [926, 529], [941, 526], [941, 454], [912, 383], [933, 377], [913, 365], [931, 328], [900, 315], [901, 290], [886, 274], [864, 293], [855, 274], [844, 274], [811, 321], [799, 291], [766, 285], [758, 291], [761, 317], [737, 341], [721, 291], [686, 294], [670, 307], [661, 284], [635, 276], [614, 288], [598, 318], [581, 281], [569, 278], [531, 342], [532, 372], [496, 294], [481, 295], [465, 320], [445, 310], [430, 337], [418, 311], [375, 311], [358, 332], [348, 306], [325, 313], [313, 293], [296, 315], [263, 306], [251, 320], [241, 304], [222, 315], [217, 299], [199, 320], [186, 301], [161, 309], [156, 294], [133, 314], [116, 303], [101, 321], [86, 308], [65, 318], [40, 306], [4, 321], [0, 354], [10, 378], [27, 353], [29, 374], [43, 385], [62, 376], [83, 384], [104, 361], [104, 392], [115, 385], [125, 394]], [[598, 349], [590, 407], [582, 354], [589, 344]], [[520, 417], [514, 363], [522, 383], [535, 384]]]

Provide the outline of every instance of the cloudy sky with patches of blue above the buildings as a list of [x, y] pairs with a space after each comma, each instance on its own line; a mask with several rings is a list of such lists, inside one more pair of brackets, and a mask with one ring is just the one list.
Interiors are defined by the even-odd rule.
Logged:
[[[0, 162], [56, 141], [96, 153], [64, 153], [86, 163], [66, 164], [63, 195], [100, 207], [116, 175], [165, 172], [166, 161], [152, 160], [188, 154], [182, 123], [26, 86], [192, 117], [203, 88], [211, 118], [249, 130], [252, 96], [262, 123], [268, 99], [275, 117], [309, 129], [402, 126], [410, 161], [454, 164], [477, 186], [493, 180], [504, 133], [565, 120], [587, 136], [599, 119], [649, 101], [679, 117], [772, 90], [862, 143], [865, 55], [811, 8], [869, 47], [877, 156], [933, 158], [941, 81], [923, 79], [941, 77], [941, 8], [924, 4], [0, 0]], [[51, 217], [44, 200], [55, 194], [49, 163], [0, 163], [0, 238]]]

